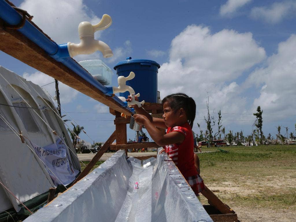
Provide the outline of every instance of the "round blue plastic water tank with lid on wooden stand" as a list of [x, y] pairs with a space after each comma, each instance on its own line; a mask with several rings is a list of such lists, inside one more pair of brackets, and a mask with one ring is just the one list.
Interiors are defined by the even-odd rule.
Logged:
[[[126, 85], [131, 86], [135, 93], [140, 93], [139, 101], [157, 103], [157, 73], [160, 65], [148, 59], [131, 59], [126, 58], [126, 61], [118, 62], [114, 69], [118, 76], [127, 77], [130, 72], [136, 74], [135, 78], [126, 82]], [[120, 93], [120, 96], [128, 97], [129, 92]]]

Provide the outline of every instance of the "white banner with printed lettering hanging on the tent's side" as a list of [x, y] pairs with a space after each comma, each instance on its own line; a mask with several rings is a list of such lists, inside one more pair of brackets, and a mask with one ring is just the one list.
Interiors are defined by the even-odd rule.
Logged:
[[46, 169], [56, 186], [58, 184], [67, 185], [75, 180], [79, 171], [73, 168], [71, 158], [67, 154], [67, 148], [61, 139], [43, 148], [32, 142], [31, 144], [36, 154], [47, 166]]

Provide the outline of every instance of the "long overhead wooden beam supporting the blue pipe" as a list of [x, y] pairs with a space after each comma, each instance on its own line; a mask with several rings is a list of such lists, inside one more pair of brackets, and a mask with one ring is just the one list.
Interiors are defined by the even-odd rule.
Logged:
[[[33, 22], [31, 23], [34, 24]], [[1, 51], [57, 79], [58, 81], [65, 83], [73, 89], [90, 96], [91, 98], [107, 105], [108, 107], [111, 107], [114, 110], [123, 112], [126, 115], [131, 115], [128, 110], [121, 107], [112, 99], [112, 97], [104, 95], [99, 89], [96, 89], [61, 62], [57, 62], [43, 49], [41, 49], [27, 37], [23, 36], [17, 30], [3, 30], [0, 27], [0, 36]]]

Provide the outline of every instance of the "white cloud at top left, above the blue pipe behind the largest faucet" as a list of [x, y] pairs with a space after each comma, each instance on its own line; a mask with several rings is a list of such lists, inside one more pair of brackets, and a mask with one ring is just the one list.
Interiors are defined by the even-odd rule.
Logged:
[[[32, 21], [58, 44], [79, 43], [79, 23], [89, 21], [96, 24], [100, 21], [82, 0], [25, 0], [20, 8], [33, 15]], [[100, 33], [95, 33], [96, 39]]]

